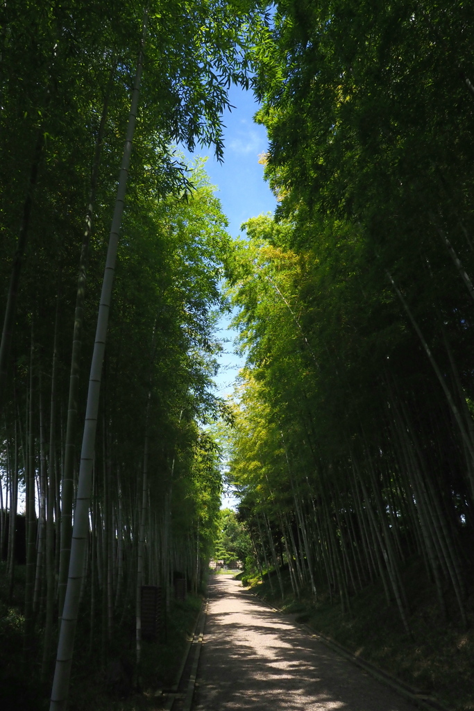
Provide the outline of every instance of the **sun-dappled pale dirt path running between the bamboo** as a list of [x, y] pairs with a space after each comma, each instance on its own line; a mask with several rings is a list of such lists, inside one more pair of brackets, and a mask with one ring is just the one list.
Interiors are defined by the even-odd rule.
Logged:
[[195, 711], [414, 711], [394, 691], [260, 604], [210, 579]]

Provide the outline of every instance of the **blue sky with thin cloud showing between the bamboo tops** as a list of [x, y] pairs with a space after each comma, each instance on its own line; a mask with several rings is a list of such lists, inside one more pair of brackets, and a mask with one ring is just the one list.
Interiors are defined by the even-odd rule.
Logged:
[[[252, 92], [240, 87], [232, 87], [230, 103], [235, 106], [224, 116], [225, 151], [224, 163], [219, 164], [212, 154], [196, 149], [195, 155], [209, 156], [205, 169], [216, 186], [216, 196], [222, 204], [222, 211], [229, 220], [229, 232], [237, 237], [240, 225], [262, 213], [273, 213], [276, 200], [264, 181], [264, 166], [259, 164], [259, 155], [266, 152], [268, 140], [263, 126], [254, 123], [253, 117], [258, 105]], [[217, 392], [228, 395], [242, 359], [235, 355], [232, 345], [235, 333], [227, 330], [229, 318], [222, 318], [217, 336], [227, 339], [225, 352], [220, 358], [220, 373], [217, 375]], [[222, 497], [222, 506], [235, 506], [232, 496]]]

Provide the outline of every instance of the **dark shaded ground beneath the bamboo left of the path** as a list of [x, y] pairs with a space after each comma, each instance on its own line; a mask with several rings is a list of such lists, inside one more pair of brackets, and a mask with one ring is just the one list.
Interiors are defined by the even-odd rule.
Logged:
[[[41, 633], [38, 629], [28, 663], [23, 662], [24, 567], [16, 569], [16, 587], [7, 602], [4, 565], [0, 564], [0, 708], [2, 711], [47, 711], [53, 664], [41, 683]], [[143, 642], [140, 690], [134, 668], [134, 606], [122, 614], [112, 640], [101, 630], [90, 640], [87, 612], [78, 625], [72, 666], [69, 711], [158, 711], [161, 691], [176, 682], [187, 639], [193, 631], [203, 598], [188, 595], [171, 601], [170, 614], [156, 642]], [[85, 606], [84, 606], [85, 607]]]

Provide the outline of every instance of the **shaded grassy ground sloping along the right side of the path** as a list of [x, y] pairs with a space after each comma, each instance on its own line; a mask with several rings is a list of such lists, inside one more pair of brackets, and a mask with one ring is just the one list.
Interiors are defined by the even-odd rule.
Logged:
[[[241, 576], [238, 576], [241, 577]], [[446, 594], [449, 619], [443, 619], [433, 588], [426, 582], [424, 568], [412, 561], [403, 573], [409, 600], [409, 626], [412, 638], [404, 634], [395, 604], [387, 606], [382, 583], [367, 586], [350, 599], [350, 611], [343, 613], [339, 600], [331, 602], [327, 593], [310, 590], [296, 599], [289, 573], [284, 575], [284, 599], [272, 575], [264, 582], [249, 579], [251, 591], [296, 621], [333, 639], [355, 656], [368, 661], [394, 677], [436, 697], [453, 711], [474, 710], [474, 594], [466, 601], [468, 629], [463, 629], [456, 610], [456, 599]]]

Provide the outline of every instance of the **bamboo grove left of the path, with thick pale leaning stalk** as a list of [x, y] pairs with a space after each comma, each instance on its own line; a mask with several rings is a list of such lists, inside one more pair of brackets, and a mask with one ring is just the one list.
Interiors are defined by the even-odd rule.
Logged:
[[240, 0], [1, 9], [10, 595], [26, 559], [26, 666], [7, 663], [2, 684], [41, 669], [50, 689], [58, 648], [52, 709], [68, 700], [75, 636], [104, 663], [136, 619], [139, 669], [141, 586], [168, 608], [173, 576], [197, 590], [210, 554], [221, 475], [205, 424], [227, 417], [212, 375], [229, 237], [202, 164], [173, 146], [222, 159], [227, 88], [248, 85], [266, 22]]

